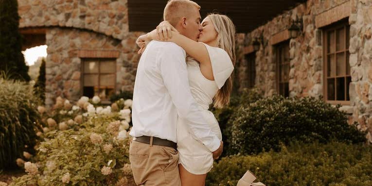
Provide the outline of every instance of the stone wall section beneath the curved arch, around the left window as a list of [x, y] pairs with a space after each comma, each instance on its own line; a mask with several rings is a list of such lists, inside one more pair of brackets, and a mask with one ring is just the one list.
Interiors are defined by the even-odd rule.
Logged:
[[135, 39], [118, 40], [104, 34], [81, 29], [51, 28], [46, 38], [46, 104], [53, 104], [57, 96], [77, 101], [81, 91], [81, 59], [85, 57], [116, 58], [116, 88], [133, 90], [139, 55]]

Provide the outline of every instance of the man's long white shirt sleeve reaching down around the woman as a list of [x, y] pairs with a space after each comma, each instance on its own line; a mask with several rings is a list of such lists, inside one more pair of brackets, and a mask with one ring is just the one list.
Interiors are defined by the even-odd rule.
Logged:
[[220, 140], [211, 130], [191, 94], [186, 68], [186, 53], [174, 43], [166, 44], [159, 51], [159, 68], [165, 87], [177, 108], [180, 118], [189, 122], [191, 134], [201, 141], [211, 152], [220, 146]]

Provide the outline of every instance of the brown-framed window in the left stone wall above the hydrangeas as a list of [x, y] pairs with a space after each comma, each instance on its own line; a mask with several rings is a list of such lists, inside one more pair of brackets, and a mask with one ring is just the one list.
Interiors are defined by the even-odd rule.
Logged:
[[115, 93], [116, 60], [83, 59], [83, 95], [108, 101]]

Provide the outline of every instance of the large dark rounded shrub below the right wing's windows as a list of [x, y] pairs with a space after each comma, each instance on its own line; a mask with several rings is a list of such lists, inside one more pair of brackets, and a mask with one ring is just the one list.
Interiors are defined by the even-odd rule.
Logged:
[[289, 144], [294, 140], [366, 141], [365, 133], [349, 125], [345, 113], [338, 107], [312, 97], [284, 99], [278, 95], [242, 106], [234, 114], [230, 128], [230, 152], [252, 154], [279, 150], [280, 142]]

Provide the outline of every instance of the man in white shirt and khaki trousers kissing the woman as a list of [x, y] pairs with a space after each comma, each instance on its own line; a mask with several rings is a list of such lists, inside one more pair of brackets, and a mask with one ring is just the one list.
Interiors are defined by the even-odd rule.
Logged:
[[[196, 40], [201, 30], [200, 6], [191, 0], [170, 0], [164, 9], [180, 34]], [[177, 117], [216, 158], [223, 143], [201, 115], [188, 83], [185, 51], [171, 42], [151, 41], [140, 59], [133, 94], [133, 128], [129, 160], [137, 185], [180, 186]]]

